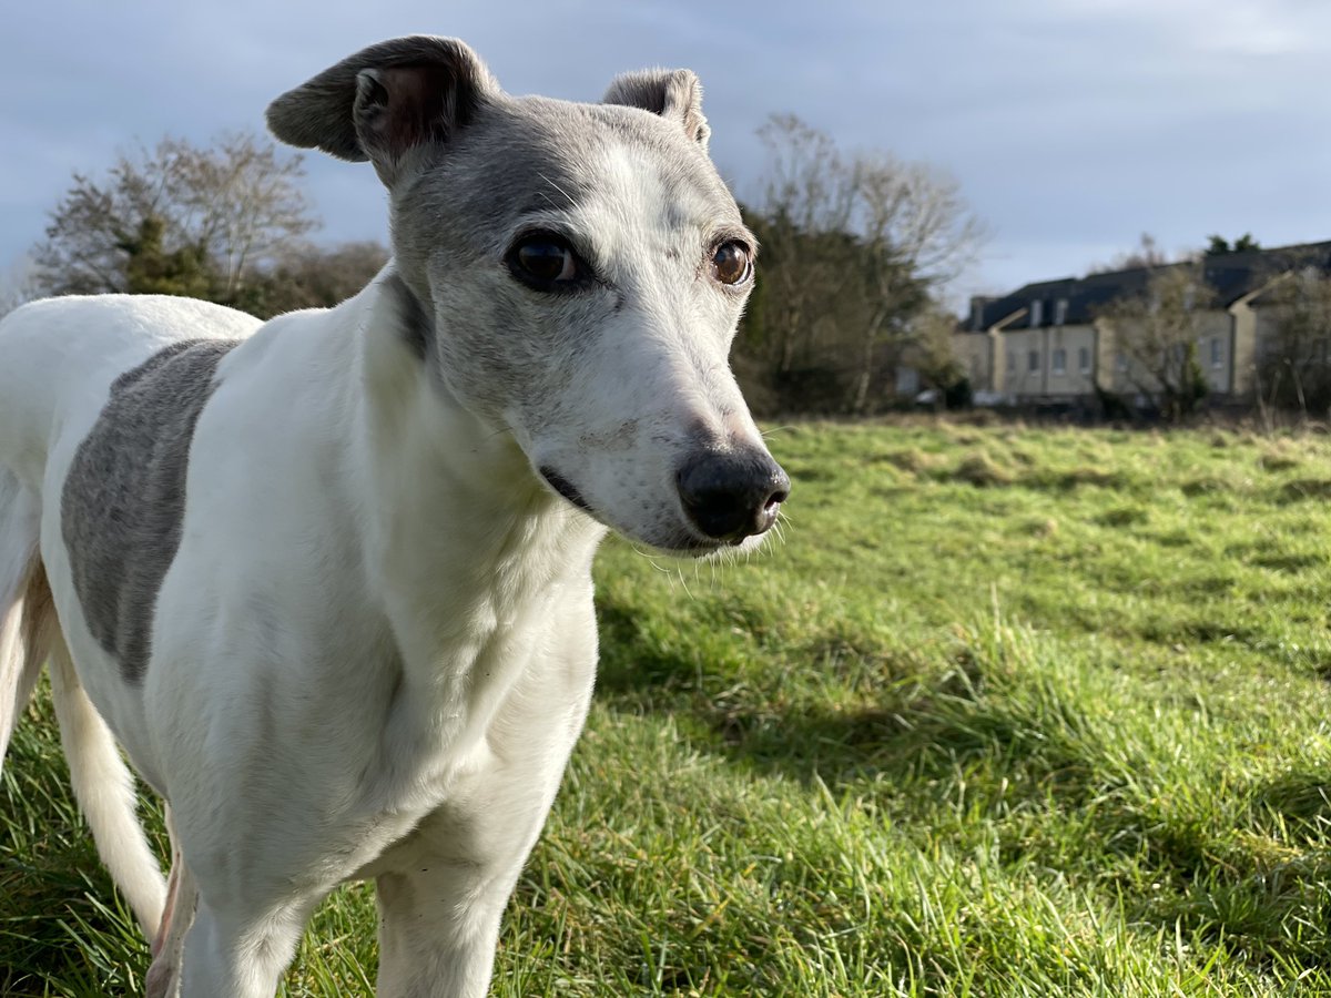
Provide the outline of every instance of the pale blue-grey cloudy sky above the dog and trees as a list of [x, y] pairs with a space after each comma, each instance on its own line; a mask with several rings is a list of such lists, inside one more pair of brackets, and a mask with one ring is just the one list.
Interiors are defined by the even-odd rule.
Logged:
[[[510, 93], [598, 100], [627, 69], [693, 69], [741, 200], [773, 113], [950, 173], [988, 230], [954, 302], [1085, 273], [1145, 232], [1169, 251], [1331, 238], [1326, 0], [48, 0], [4, 25], [0, 290], [75, 172], [262, 129], [278, 93], [417, 32], [463, 39]], [[321, 241], [387, 241], [367, 165], [305, 164]]]

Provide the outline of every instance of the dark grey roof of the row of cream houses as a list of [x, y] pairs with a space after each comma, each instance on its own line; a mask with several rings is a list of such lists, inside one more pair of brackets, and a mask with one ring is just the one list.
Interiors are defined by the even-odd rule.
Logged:
[[[1270, 250], [1247, 253], [1222, 253], [1202, 258], [1206, 282], [1215, 291], [1215, 301], [1229, 307], [1246, 294], [1251, 294], [1278, 274], [1300, 266], [1315, 266], [1331, 271], [1331, 241], [1308, 242], [1298, 246], [1280, 246]], [[1032, 305], [1044, 302], [1040, 325], [1054, 325], [1057, 302], [1067, 302], [1063, 317], [1066, 325], [1091, 322], [1099, 309], [1118, 298], [1145, 294], [1150, 277], [1157, 270], [1186, 263], [1169, 263], [1165, 267], [1130, 267], [1110, 270], [1086, 277], [1065, 277], [1057, 281], [1037, 281], [1018, 287], [1001, 298], [974, 302], [978, 314], [965, 322], [966, 329], [986, 330], [1002, 322], [1021, 309], [1026, 314], [1010, 322], [1005, 329], [1029, 329], [1032, 326]]]

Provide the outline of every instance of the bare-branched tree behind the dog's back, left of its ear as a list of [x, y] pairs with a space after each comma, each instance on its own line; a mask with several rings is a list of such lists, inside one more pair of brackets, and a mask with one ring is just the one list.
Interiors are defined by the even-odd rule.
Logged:
[[315, 228], [298, 156], [268, 140], [213, 148], [165, 138], [121, 154], [104, 181], [76, 173], [35, 249], [47, 294], [156, 291], [238, 302]]

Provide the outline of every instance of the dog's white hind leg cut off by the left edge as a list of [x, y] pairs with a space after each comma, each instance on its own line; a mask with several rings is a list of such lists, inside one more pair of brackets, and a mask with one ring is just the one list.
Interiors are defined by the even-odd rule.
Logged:
[[0, 468], [0, 764], [59, 627], [39, 531], [36, 496]]

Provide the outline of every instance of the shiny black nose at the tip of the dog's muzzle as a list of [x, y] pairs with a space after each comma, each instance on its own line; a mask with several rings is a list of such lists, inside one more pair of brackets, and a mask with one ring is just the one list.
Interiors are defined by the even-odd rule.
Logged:
[[757, 447], [704, 451], [675, 476], [684, 510], [709, 538], [737, 544], [776, 523], [791, 479]]

